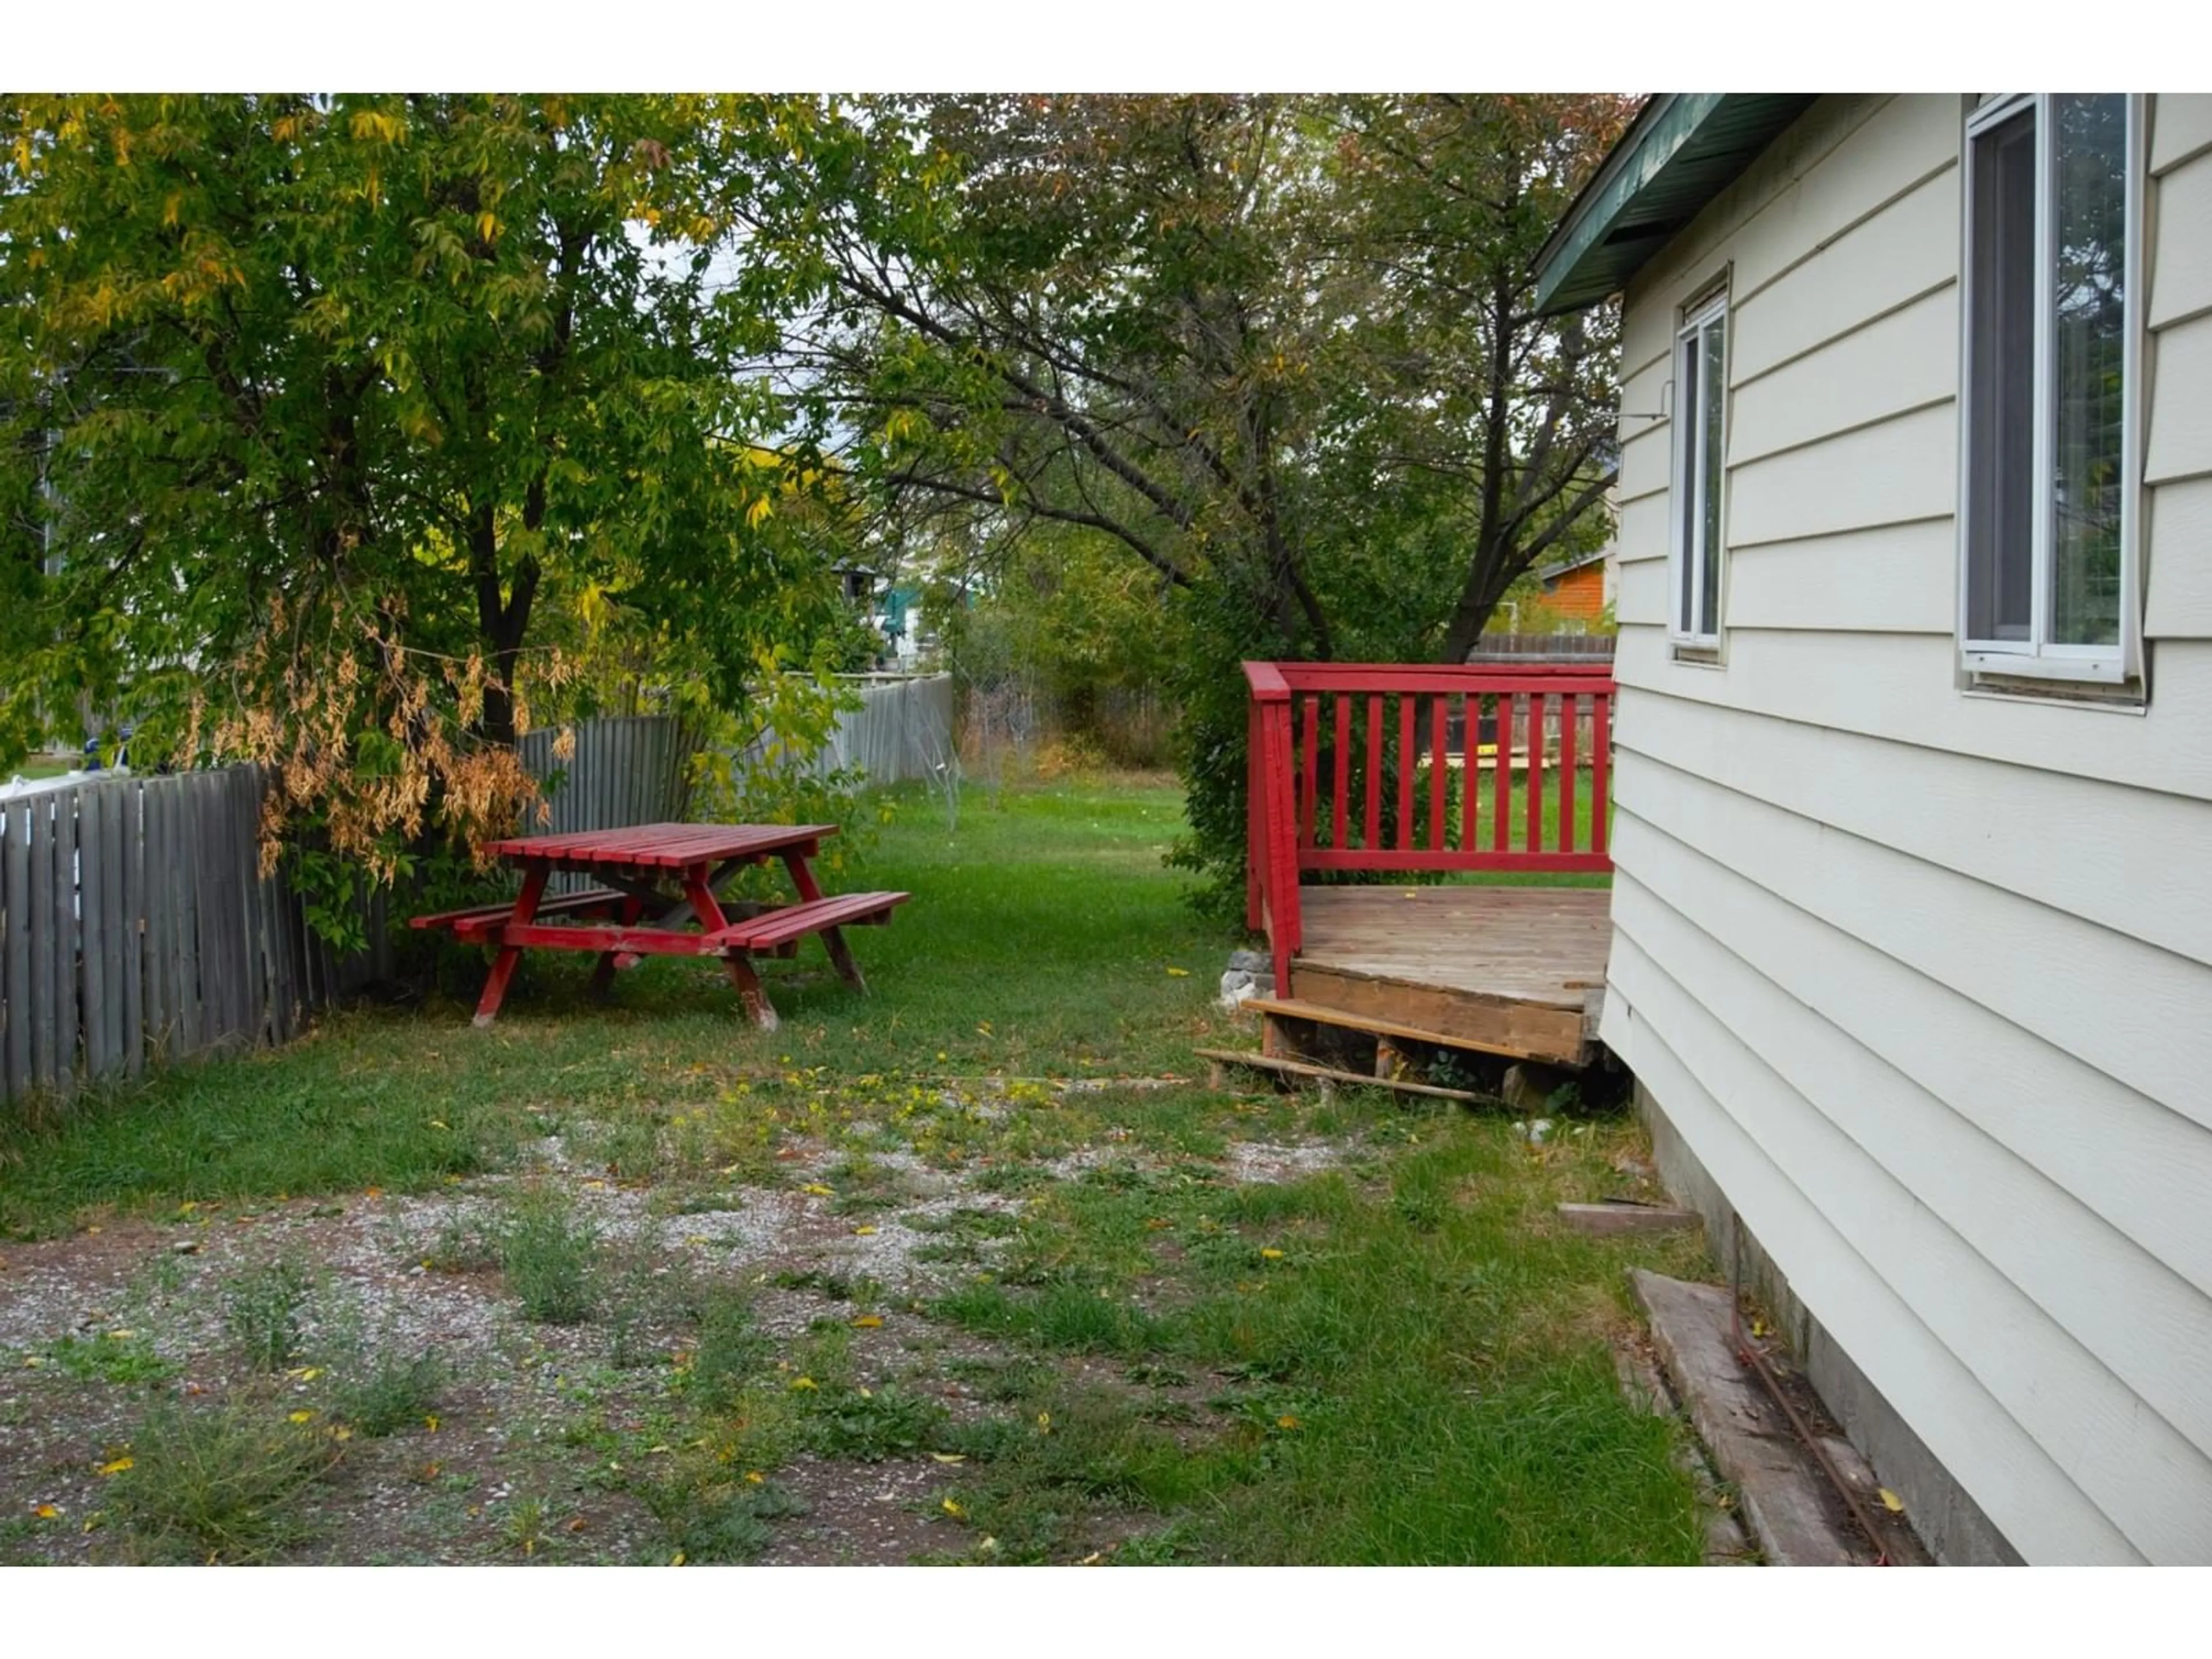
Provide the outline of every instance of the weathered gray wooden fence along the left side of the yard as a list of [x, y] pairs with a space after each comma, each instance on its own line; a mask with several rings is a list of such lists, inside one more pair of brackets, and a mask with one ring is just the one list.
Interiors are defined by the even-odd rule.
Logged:
[[[818, 761], [872, 781], [949, 752], [951, 681], [863, 688]], [[553, 730], [522, 763], [555, 787], [535, 832], [684, 818], [697, 734], [641, 714]], [[555, 772], [562, 776], [555, 779]], [[115, 774], [0, 799], [0, 1104], [137, 1077], [150, 1062], [288, 1042], [314, 1009], [394, 973], [387, 889], [369, 949], [332, 951], [283, 872], [261, 874], [261, 772]]]

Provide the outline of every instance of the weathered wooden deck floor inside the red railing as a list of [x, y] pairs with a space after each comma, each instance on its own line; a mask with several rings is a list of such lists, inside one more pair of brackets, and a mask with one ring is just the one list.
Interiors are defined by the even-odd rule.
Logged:
[[1604, 1002], [1601, 887], [1305, 887], [1292, 998], [1484, 1053], [1590, 1064]]

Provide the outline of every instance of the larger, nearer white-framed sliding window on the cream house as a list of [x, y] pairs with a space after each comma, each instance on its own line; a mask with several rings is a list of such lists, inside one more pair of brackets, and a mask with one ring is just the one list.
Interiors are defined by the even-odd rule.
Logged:
[[1971, 681], [2141, 677], [2143, 100], [1966, 117], [1960, 657]]

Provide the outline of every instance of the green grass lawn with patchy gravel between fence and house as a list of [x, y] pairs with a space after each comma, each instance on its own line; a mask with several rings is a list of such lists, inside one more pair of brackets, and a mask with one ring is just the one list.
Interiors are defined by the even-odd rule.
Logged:
[[[633, 1188], [653, 1214], [781, 1192], [812, 1199], [847, 1243], [902, 1219], [927, 1230], [927, 1287], [785, 1272], [830, 1310], [796, 1338], [748, 1325], [759, 1279], [690, 1296], [668, 1314], [695, 1329], [684, 1352], [622, 1371], [644, 1405], [586, 1409], [566, 1367], [557, 1400], [573, 1416], [533, 1444], [597, 1460], [595, 1491], [650, 1511], [653, 1559], [770, 1548], [794, 1524], [774, 1484], [792, 1458], [914, 1460], [940, 1480], [920, 1551], [936, 1559], [1699, 1559], [1679, 1431], [1621, 1398], [1608, 1347], [1630, 1323], [1626, 1267], [1697, 1272], [1697, 1243], [1553, 1223], [1562, 1199], [1628, 1190], [1630, 1124], [1590, 1119], [1533, 1148], [1504, 1115], [1360, 1091], [1214, 1093], [1192, 1046], [1248, 1033], [1212, 1004], [1232, 940], [1161, 865], [1181, 825], [1172, 787], [971, 794], [956, 832], [920, 792], [889, 805], [827, 880], [914, 891], [889, 929], [852, 933], [867, 998], [807, 947], [770, 969], [785, 1022], [770, 1035], [706, 964], [653, 962], [599, 1006], [588, 962], [553, 958], [529, 962], [498, 1024], [473, 1031], [480, 969], [462, 964], [451, 995], [334, 1015], [290, 1048], [177, 1068], [18, 1130], [0, 1146], [0, 1223], [66, 1237], [367, 1188], [484, 1192], [509, 1221], [476, 1245], [456, 1234], [425, 1267], [480, 1259], [504, 1274], [515, 1318], [599, 1321], [617, 1347], [635, 1345], [619, 1334], [635, 1310], [593, 1290], [613, 1265], [562, 1219], [580, 1194], [529, 1164], [544, 1135], [599, 1170], [586, 1186]], [[1239, 1179], [1254, 1148], [1312, 1161]], [[794, 1175], [801, 1155], [812, 1179]], [[524, 1188], [476, 1179], [504, 1170]], [[969, 1197], [916, 1210], [925, 1177]], [[241, 1292], [223, 1294], [234, 1318]], [[905, 1323], [898, 1343], [883, 1314]], [[367, 1387], [330, 1365], [323, 1387]], [[936, 1405], [956, 1374], [989, 1416]], [[133, 1378], [77, 1387], [168, 1387]], [[254, 1398], [223, 1409], [250, 1413]], [[173, 1405], [148, 1407], [144, 1444], [199, 1431]], [[250, 1422], [201, 1427], [259, 1444]], [[765, 1484], [732, 1486], [730, 1469]], [[312, 1504], [316, 1480], [301, 1473], [285, 1502]], [[190, 1515], [157, 1502], [155, 1475], [133, 1482], [128, 1513], [155, 1517], [142, 1535], [157, 1557]], [[1117, 1517], [1106, 1533], [1102, 1513]], [[526, 1533], [551, 1559], [604, 1559], [577, 1553], [597, 1531], [575, 1542], [540, 1520], [509, 1511], [484, 1548]], [[285, 1551], [305, 1544], [270, 1548], [303, 1559]]]

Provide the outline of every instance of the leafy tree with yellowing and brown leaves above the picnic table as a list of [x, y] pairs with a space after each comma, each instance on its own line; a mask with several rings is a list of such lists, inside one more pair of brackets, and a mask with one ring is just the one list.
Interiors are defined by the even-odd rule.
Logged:
[[511, 821], [611, 641], [714, 708], [805, 666], [821, 467], [730, 279], [730, 113], [0, 100], [0, 743], [82, 692], [389, 872]]

